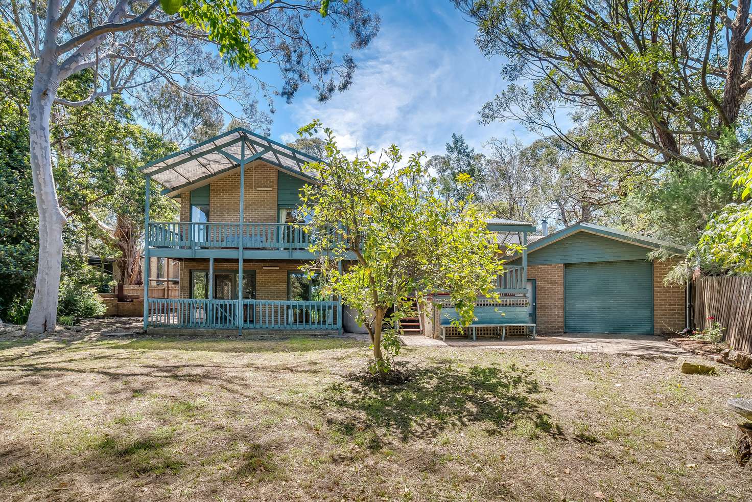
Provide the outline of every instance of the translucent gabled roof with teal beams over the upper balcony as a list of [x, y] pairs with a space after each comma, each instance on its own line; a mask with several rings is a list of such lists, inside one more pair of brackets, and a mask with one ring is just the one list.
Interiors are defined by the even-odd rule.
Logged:
[[305, 169], [305, 163], [322, 160], [243, 127], [154, 160], [139, 170], [162, 184], [162, 193], [174, 196], [238, 169], [243, 146], [246, 163], [262, 160], [282, 172], [317, 182], [315, 173]]

